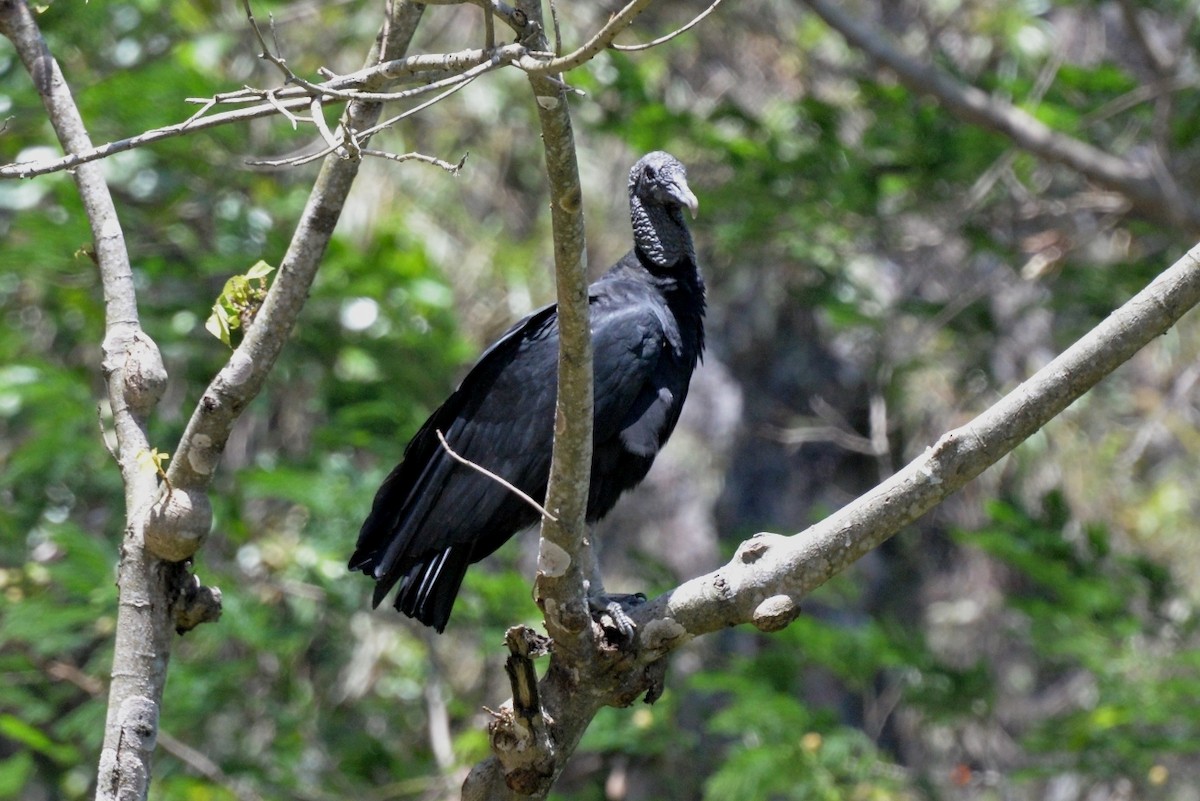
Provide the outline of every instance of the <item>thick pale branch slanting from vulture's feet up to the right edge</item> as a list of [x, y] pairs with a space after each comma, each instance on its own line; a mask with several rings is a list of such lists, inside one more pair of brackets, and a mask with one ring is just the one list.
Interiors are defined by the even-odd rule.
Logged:
[[[542, 716], [554, 722], [556, 769], [601, 706], [656, 695], [671, 651], [740, 624], [763, 632], [786, 627], [800, 614], [804, 595], [1012, 452], [1196, 303], [1200, 245], [984, 414], [838, 513], [793, 536], [748, 540], [728, 565], [632, 609], [638, 639], [630, 652], [601, 655], [570, 669], [556, 669], [552, 657], [538, 689]], [[544, 797], [553, 781], [542, 777], [530, 789], [528, 773], [508, 778], [509, 787], [532, 797]], [[504, 797], [504, 779], [498, 760], [480, 763], [463, 784], [463, 801]]]

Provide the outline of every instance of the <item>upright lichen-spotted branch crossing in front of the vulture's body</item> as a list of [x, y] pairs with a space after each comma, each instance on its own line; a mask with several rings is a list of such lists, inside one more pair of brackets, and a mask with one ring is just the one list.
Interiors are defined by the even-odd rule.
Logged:
[[[517, 7], [529, 20], [524, 41], [545, 49], [540, 0], [523, 0]], [[586, 544], [584, 522], [592, 475], [593, 368], [582, 188], [566, 91], [562, 82], [536, 72], [530, 72], [529, 83], [538, 103], [550, 179], [558, 288], [558, 403], [546, 489], [546, 507], [558, 519], [542, 518], [534, 589], [554, 649], [547, 673], [551, 677], [539, 687], [529, 654], [517, 654], [515, 630], [510, 631], [514, 700], [488, 727], [493, 755], [468, 775], [464, 800], [503, 797], [509, 789], [545, 797], [604, 703], [595, 693], [575, 692], [576, 681], [600, 669], [587, 598], [587, 579], [596, 571], [594, 552]], [[522, 666], [520, 670], [515, 660]], [[524, 680], [518, 681], [522, 676]], [[568, 710], [568, 699], [578, 706]], [[544, 713], [542, 704], [554, 711]], [[559, 715], [583, 723], [576, 727], [559, 719]]]

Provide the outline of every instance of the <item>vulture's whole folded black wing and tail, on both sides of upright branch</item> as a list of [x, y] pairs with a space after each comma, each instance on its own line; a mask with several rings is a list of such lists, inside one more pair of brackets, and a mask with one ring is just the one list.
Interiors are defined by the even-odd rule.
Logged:
[[[671, 326], [644, 285], [601, 281], [593, 290], [595, 441], [628, 438], [646, 452], [661, 416], [650, 379]], [[350, 559], [352, 570], [377, 580], [377, 606], [403, 579], [396, 608], [442, 631], [467, 567], [536, 522], [515, 493], [450, 457], [437, 432], [462, 458], [542, 500], [557, 359], [558, 318], [550, 306], [488, 348], [409, 442], [376, 494]]]

